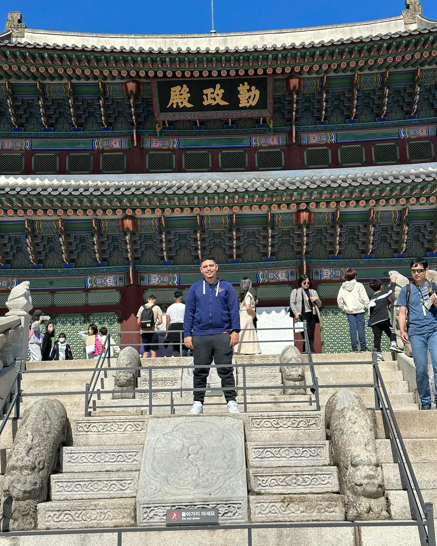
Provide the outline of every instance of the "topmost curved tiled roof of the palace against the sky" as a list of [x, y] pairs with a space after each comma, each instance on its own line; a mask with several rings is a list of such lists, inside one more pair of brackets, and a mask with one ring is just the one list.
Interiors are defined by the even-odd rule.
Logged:
[[[433, 21], [427, 20], [432, 26]], [[344, 25], [288, 28], [274, 31], [256, 31], [217, 34], [135, 35], [135, 34], [86, 34], [61, 31], [25, 29], [21, 41], [10, 41], [10, 33], [4, 34], [5, 45], [52, 50], [132, 52], [135, 54], [227, 54], [261, 52], [282, 49], [302, 49], [327, 45], [353, 44], [402, 38], [410, 35], [435, 32], [431, 29], [405, 30], [403, 18], [379, 19]], [[332, 38], [331, 38], [332, 37]], [[291, 41], [291, 40], [295, 41]], [[255, 42], [255, 44], [254, 44]], [[103, 44], [103, 45], [102, 45]], [[181, 44], [183, 47], [179, 46]], [[246, 44], [246, 45], [244, 45]]]

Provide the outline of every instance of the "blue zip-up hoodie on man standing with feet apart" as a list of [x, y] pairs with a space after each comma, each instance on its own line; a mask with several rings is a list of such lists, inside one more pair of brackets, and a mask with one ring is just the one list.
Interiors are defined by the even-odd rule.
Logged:
[[205, 280], [192, 284], [185, 301], [184, 337], [232, 330], [240, 330], [240, 305], [232, 284], [223, 278], [212, 287]]

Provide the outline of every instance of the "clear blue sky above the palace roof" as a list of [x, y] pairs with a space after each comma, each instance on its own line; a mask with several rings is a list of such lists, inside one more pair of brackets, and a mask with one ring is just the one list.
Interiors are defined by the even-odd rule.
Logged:
[[[436, 0], [422, 0], [422, 5], [424, 15], [437, 20]], [[382, 19], [402, 9], [402, 0], [215, 0], [214, 19], [217, 32], [238, 32]], [[211, 30], [210, 0], [7, 0], [0, 8], [0, 28], [13, 10], [21, 11], [29, 28], [122, 34]]]

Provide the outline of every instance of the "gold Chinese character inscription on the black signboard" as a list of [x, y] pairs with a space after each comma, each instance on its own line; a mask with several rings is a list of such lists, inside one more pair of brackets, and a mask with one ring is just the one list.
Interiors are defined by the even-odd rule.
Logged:
[[[203, 104], [205, 106], [211, 105], [215, 106], [216, 104], [227, 105], [229, 104], [226, 100], [223, 100], [223, 90], [220, 84], [216, 84], [215, 87], [209, 87], [203, 90]], [[173, 106], [173, 108], [193, 108], [193, 104], [188, 102], [188, 99], [191, 97], [190, 89], [186, 84], [180, 86], [176, 85], [175, 87], [170, 88], [170, 100], [167, 105]], [[238, 86], [238, 99], [240, 101], [240, 108], [249, 108], [249, 106], [255, 106], [259, 99], [259, 90], [252, 85], [249, 87], [247, 81], [244, 84]]]

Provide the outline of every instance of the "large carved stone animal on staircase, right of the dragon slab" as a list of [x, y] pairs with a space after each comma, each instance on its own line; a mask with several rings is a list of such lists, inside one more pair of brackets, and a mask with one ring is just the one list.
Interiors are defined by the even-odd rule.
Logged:
[[325, 407], [325, 425], [340, 473], [346, 520], [389, 519], [374, 427], [361, 398], [347, 389], [333, 394]]

